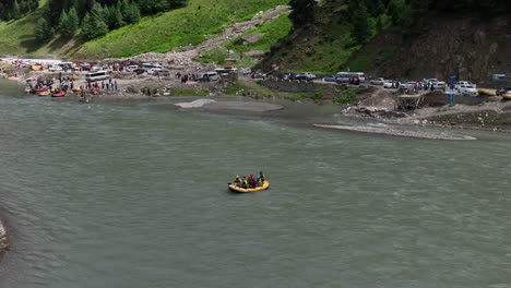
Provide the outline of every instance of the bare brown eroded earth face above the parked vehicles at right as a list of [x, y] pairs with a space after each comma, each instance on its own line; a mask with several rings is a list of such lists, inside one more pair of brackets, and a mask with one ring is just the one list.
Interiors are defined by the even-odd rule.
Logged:
[[[368, 57], [368, 74], [417, 80], [438, 77], [490, 83], [492, 74], [511, 74], [509, 17], [438, 16], [417, 37], [388, 31], [375, 37], [354, 59]], [[511, 24], [511, 23], [509, 23]]]

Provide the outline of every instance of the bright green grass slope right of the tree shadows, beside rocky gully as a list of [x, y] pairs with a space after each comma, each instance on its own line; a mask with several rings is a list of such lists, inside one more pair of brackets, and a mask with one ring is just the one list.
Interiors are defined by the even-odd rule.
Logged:
[[166, 52], [179, 46], [199, 44], [207, 35], [218, 34], [226, 24], [250, 19], [259, 11], [287, 0], [189, 0], [186, 8], [114, 31], [86, 43], [78, 58], [129, 57], [142, 52]]

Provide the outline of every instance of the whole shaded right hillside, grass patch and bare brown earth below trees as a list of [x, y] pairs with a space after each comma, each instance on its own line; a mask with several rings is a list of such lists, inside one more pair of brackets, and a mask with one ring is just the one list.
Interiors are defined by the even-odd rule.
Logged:
[[[447, 80], [456, 74], [488, 84], [492, 74], [511, 75], [511, 10], [503, 3], [476, 10], [472, 5], [490, 1], [472, 1], [472, 5], [429, 1], [423, 10], [414, 10], [413, 3], [421, 2], [411, 1], [411, 10], [395, 16], [393, 10], [400, 1], [382, 1], [387, 3], [382, 14], [368, 17], [368, 26], [372, 27], [369, 38], [357, 41], [354, 11], [359, 8], [350, 8], [352, 2], [320, 1], [316, 17], [295, 27], [273, 47], [261, 68], [319, 73], [364, 71], [369, 76], [401, 80]], [[375, 25], [375, 20], [379, 24]]]

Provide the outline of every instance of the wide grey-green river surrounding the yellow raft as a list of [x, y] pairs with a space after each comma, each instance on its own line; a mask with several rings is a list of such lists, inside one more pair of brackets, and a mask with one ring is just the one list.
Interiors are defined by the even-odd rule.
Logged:
[[[0, 81], [0, 287], [511, 287], [511, 135], [20, 91]], [[270, 190], [227, 191], [260, 169]]]

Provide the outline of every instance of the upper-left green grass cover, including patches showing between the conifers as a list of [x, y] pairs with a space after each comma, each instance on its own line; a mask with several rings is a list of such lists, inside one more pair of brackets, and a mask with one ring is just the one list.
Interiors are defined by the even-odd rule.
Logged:
[[[61, 55], [75, 56], [76, 58], [100, 59], [106, 57], [130, 57], [143, 52], [166, 52], [177, 47], [199, 44], [212, 35], [223, 32], [225, 25], [250, 20], [259, 11], [265, 11], [280, 4], [286, 4], [288, 0], [189, 0], [187, 5], [169, 12], [161, 10], [152, 11], [144, 8], [141, 13], [158, 13], [144, 16], [136, 22], [136, 13], [123, 13], [122, 21], [128, 24], [115, 29], [105, 36], [86, 43], [86, 38], [94, 38], [105, 33], [105, 26], [94, 22], [91, 10], [76, 9], [79, 17], [82, 17], [76, 32], [59, 31], [59, 20], [62, 11], [69, 11], [66, 4], [76, 1], [41, 0], [39, 7], [16, 21], [0, 22], [0, 53], [7, 55]], [[84, 1], [78, 1], [83, 3]], [[116, 1], [96, 1], [97, 3], [114, 3]], [[121, 1], [122, 3], [127, 1]], [[130, 1], [131, 2], [131, 1]], [[144, 0], [144, 3], [152, 2]], [[118, 19], [117, 8], [108, 5], [106, 21], [106, 4], [103, 7], [103, 19], [108, 29], [120, 26], [111, 17]], [[52, 8], [48, 11], [48, 8]], [[129, 9], [128, 9], [129, 10]], [[112, 12], [114, 11], [114, 12]], [[86, 12], [90, 21], [84, 21]], [[129, 11], [128, 11], [129, 12]], [[131, 11], [133, 12], [133, 11]], [[51, 15], [51, 20], [46, 19]], [[99, 13], [96, 13], [99, 14]], [[39, 21], [45, 17], [44, 21]], [[63, 17], [64, 20], [66, 17]], [[84, 25], [84, 22], [87, 23]], [[108, 23], [107, 23], [108, 22]], [[74, 25], [74, 24], [73, 24]], [[88, 25], [88, 26], [87, 26]], [[91, 27], [90, 27], [91, 26]], [[36, 37], [36, 31], [39, 33]], [[74, 36], [69, 36], [73, 34]], [[70, 38], [71, 37], [71, 38]]]

